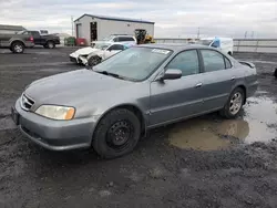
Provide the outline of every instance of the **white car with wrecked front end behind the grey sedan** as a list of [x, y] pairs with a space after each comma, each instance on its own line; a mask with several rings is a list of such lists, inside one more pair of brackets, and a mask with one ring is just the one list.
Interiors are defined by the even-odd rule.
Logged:
[[94, 46], [86, 46], [70, 54], [70, 61], [83, 65], [96, 65], [101, 61], [130, 48], [129, 43], [94, 42]]

